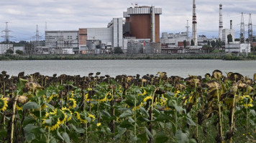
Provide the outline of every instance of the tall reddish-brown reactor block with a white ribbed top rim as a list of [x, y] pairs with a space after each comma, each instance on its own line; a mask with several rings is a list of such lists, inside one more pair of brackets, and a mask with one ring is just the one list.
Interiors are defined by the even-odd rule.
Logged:
[[135, 36], [136, 39], [151, 39], [160, 42], [161, 8], [155, 6], [134, 6], [124, 11], [126, 19], [124, 36]]

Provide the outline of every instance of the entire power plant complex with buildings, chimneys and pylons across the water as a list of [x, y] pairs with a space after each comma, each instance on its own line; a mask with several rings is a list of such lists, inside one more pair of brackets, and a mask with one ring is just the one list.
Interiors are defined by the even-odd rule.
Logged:
[[[186, 31], [178, 34], [160, 34], [162, 8], [135, 4], [127, 8], [122, 17], [111, 19], [106, 27], [82, 27], [68, 31], [45, 30], [45, 44], [36, 45], [35, 54], [112, 54], [116, 48], [122, 49], [124, 54], [206, 53], [209, 52], [209, 46], [226, 52], [250, 52], [250, 44], [253, 44], [255, 39], [252, 35], [251, 16], [246, 40], [242, 14], [240, 37], [237, 41], [234, 38], [232, 19], [230, 28], [224, 29], [223, 7], [219, 4], [219, 37], [209, 39], [197, 34], [196, 0], [193, 0], [192, 8], [191, 36], [188, 22]], [[6, 41], [8, 38], [7, 29]], [[216, 43], [218, 44], [215, 46]], [[7, 49], [14, 49], [14, 46], [1, 44], [0, 49], [0, 54], [4, 54]]]

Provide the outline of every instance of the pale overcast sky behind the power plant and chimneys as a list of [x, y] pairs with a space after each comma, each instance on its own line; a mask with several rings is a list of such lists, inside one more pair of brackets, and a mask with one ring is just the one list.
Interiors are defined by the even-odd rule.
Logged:
[[[44, 39], [47, 30], [78, 30], [78, 28], [106, 27], [114, 17], [122, 17], [123, 11], [132, 4], [155, 6], [163, 9], [160, 16], [160, 35], [163, 31], [178, 33], [186, 31], [186, 21], [192, 28], [193, 0], [0, 0], [0, 30], [8, 21], [11, 41], [35, 39], [36, 25]], [[256, 25], [256, 0], [196, 0], [198, 35], [217, 37], [219, 32], [219, 4], [223, 4], [224, 29], [233, 20], [236, 36], [239, 36], [241, 13], [248, 24]], [[256, 31], [256, 27], [253, 26]], [[247, 26], [245, 26], [247, 34]], [[254, 34], [256, 32], [253, 32]], [[1, 32], [4, 36], [4, 32]], [[33, 37], [34, 36], [34, 37]], [[0, 41], [4, 41], [1, 37]]]

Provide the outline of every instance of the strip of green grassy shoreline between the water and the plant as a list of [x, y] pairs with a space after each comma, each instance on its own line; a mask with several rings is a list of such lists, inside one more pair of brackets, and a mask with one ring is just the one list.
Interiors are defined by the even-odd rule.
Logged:
[[221, 59], [221, 60], [256, 60], [255, 54], [33, 54], [0, 55], [0, 61], [9, 60], [108, 60], [108, 59]]

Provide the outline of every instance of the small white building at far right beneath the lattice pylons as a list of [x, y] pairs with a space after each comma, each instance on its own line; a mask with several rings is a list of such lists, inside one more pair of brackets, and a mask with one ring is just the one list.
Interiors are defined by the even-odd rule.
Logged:
[[226, 44], [225, 51], [229, 53], [250, 53], [251, 44]]

